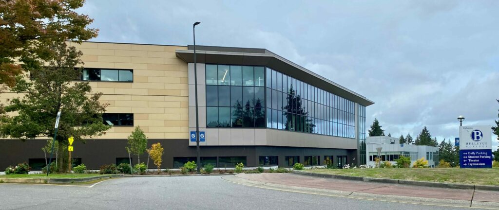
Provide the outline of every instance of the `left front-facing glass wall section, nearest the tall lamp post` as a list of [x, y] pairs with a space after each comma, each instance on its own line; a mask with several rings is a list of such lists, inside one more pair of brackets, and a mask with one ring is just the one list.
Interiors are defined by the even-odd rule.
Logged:
[[260, 66], [206, 65], [207, 127], [265, 127]]

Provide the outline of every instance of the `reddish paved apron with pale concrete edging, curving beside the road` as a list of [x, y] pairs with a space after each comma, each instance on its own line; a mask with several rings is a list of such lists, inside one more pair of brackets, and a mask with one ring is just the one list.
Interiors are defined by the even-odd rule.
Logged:
[[499, 209], [499, 191], [369, 183], [297, 174], [238, 174], [223, 179], [254, 187], [327, 196]]

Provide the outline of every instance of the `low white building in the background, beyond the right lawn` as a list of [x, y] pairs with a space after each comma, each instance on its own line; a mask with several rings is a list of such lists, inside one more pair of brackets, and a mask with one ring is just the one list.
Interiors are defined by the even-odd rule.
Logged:
[[374, 160], [378, 156], [376, 148], [381, 148], [381, 161], [390, 161], [395, 165], [395, 160], [400, 156], [411, 158], [411, 167], [417, 159], [424, 157], [428, 160], [428, 167], [438, 166], [438, 147], [417, 146], [414, 144], [399, 144], [399, 138], [390, 136], [366, 137], [366, 163], [374, 167]]

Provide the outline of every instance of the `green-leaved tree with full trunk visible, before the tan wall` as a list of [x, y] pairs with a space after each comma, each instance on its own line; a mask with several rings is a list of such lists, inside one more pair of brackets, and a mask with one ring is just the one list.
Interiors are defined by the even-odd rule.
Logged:
[[5, 111], [17, 115], [1, 118], [0, 133], [18, 139], [54, 136], [54, 122], [61, 111], [58, 141], [58, 170], [64, 172], [68, 166], [67, 138], [76, 141], [100, 136], [109, 129], [102, 123], [102, 113], [106, 105], [99, 103], [102, 93], [92, 93], [88, 82], [74, 82], [80, 77], [81, 52], [68, 47], [65, 42], [53, 42], [50, 50], [56, 52], [45, 65], [26, 63], [30, 80], [18, 80], [12, 91], [25, 93], [23, 97], [12, 99]]

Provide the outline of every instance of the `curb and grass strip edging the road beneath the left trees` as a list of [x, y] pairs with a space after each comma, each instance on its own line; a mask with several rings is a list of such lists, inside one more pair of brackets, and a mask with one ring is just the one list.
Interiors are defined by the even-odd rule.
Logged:
[[95, 177], [86, 178], [0, 178], [2, 183], [21, 183], [21, 184], [69, 184], [69, 183], [81, 183], [90, 182], [94, 180], [106, 179], [106, 178], [117, 178], [123, 177], [123, 175], [102, 175]]

